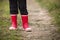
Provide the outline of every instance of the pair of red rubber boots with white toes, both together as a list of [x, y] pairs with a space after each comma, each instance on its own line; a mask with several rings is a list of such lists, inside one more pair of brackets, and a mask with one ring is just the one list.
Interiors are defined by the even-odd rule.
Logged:
[[[28, 24], [28, 15], [21, 15], [22, 18], [22, 26], [25, 31], [31, 31], [31, 28], [29, 27]], [[15, 30], [17, 29], [17, 15], [13, 14], [11, 15], [11, 22], [12, 25], [9, 28], [10, 30]]]

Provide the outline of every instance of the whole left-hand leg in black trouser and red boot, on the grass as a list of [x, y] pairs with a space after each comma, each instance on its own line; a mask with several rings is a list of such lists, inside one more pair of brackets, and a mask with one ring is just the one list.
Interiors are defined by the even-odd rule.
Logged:
[[17, 0], [9, 0], [10, 3], [10, 16], [11, 16], [11, 27], [9, 29], [17, 28], [17, 14], [18, 14], [18, 5]]

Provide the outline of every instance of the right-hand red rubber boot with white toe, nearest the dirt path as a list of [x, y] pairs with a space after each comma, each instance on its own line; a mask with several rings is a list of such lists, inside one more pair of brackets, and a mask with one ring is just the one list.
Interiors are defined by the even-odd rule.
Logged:
[[28, 15], [22, 15], [22, 25], [25, 31], [31, 31], [31, 28], [28, 24]]

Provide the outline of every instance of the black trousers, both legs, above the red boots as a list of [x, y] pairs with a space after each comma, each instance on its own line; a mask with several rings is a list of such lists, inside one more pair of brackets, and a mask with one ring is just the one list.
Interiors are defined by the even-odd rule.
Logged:
[[19, 9], [21, 15], [28, 15], [26, 0], [9, 0], [9, 4], [11, 14], [18, 14]]

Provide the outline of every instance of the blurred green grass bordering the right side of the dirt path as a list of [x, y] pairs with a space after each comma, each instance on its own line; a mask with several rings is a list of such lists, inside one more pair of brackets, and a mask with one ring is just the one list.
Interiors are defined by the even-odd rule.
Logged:
[[40, 6], [48, 9], [50, 15], [54, 18], [53, 23], [58, 27], [60, 32], [60, 0], [36, 0]]

